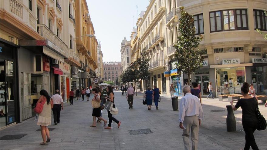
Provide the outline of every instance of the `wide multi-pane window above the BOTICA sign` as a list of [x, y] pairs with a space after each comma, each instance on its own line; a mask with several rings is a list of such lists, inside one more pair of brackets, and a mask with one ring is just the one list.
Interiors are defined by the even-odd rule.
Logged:
[[246, 9], [232, 9], [210, 12], [211, 32], [248, 30]]

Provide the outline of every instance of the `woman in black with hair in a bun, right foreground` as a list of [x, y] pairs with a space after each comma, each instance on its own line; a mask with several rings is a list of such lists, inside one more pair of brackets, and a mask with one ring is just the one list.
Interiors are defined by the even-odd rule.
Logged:
[[248, 95], [248, 83], [244, 82], [241, 87], [241, 92], [244, 98], [238, 100], [238, 102], [233, 105], [231, 102], [233, 110], [237, 110], [239, 107], [242, 108], [242, 125], [245, 131], [245, 148], [244, 150], [249, 150], [250, 146], [253, 150], [259, 150], [255, 138], [254, 131], [257, 128], [258, 121], [256, 116], [256, 108], [258, 107], [258, 102], [255, 97]]

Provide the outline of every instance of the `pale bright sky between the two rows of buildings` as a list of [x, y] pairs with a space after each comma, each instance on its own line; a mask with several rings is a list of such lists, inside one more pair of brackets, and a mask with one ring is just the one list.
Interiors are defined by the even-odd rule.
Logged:
[[[100, 41], [103, 62], [121, 61], [120, 44], [130, 40], [138, 15], [145, 11], [149, 0], [86, 0], [89, 14]], [[133, 21], [134, 17], [134, 21]]]

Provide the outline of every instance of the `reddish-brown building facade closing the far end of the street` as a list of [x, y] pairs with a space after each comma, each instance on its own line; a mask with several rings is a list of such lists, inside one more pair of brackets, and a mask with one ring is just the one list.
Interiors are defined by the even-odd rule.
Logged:
[[122, 69], [121, 62], [103, 62], [104, 81], [113, 81], [116, 84], [116, 78], [119, 78]]

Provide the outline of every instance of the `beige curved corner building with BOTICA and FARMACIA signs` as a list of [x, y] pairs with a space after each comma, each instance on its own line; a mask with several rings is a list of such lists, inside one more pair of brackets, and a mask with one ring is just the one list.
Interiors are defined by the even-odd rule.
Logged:
[[[255, 30], [267, 31], [265, 0], [170, 0], [166, 5], [167, 57], [171, 69], [176, 62], [172, 44], [179, 35], [179, 8], [184, 6], [185, 11], [194, 15], [196, 35], [204, 37], [200, 48], [207, 49], [203, 67], [192, 75], [201, 87], [201, 94], [208, 95], [208, 82], [212, 82], [217, 96], [241, 93], [243, 82], [252, 83], [256, 94], [267, 93], [267, 42]], [[183, 74], [171, 76], [171, 81], [180, 89], [189, 82]]]

